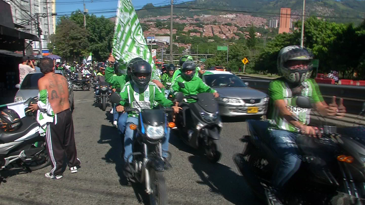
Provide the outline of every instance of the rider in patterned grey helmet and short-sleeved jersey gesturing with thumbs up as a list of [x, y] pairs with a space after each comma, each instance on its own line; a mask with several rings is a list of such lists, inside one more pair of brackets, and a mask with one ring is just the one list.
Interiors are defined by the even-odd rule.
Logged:
[[324, 116], [345, 115], [343, 100], [337, 105], [335, 97], [327, 105], [317, 89], [315, 81], [309, 79], [312, 74], [313, 55], [304, 47], [287, 46], [280, 50], [277, 68], [283, 75], [269, 84], [268, 122], [249, 120], [251, 136], [261, 139], [276, 152], [280, 160], [274, 169], [272, 187], [265, 190], [271, 205], [281, 205], [280, 196], [286, 182], [299, 169], [301, 158], [296, 146], [299, 131], [308, 135], [320, 135], [317, 127], [308, 126], [310, 109], [298, 108], [296, 96], [308, 96], [312, 104]]

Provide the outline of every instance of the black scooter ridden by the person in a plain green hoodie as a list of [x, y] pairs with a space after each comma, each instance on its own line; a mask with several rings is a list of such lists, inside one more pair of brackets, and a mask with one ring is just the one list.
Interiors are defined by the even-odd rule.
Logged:
[[[184, 86], [183, 84], [179, 86]], [[179, 92], [175, 97], [179, 107], [188, 107], [177, 115], [178, 133], [180, 139], [189, 146], [198, 149], [204, 148], [205, 155], [211, 163], [216, 163], [222, 156], [220, 145], [220, 131], [223, 123], [219, 119], [218, 103], [212, 93], [199, 93], [197, 95], [183, 96]], [[194, 99], [197, 102], [181, 102]]]

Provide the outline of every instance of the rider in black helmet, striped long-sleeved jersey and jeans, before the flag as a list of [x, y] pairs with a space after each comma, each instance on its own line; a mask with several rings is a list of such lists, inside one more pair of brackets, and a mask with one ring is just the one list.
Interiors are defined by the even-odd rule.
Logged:
[[[152, 109], [154, 106], [154, 102], [158, 102], [164, 107], [172, 107], [174, 112], [178, 113], [179, 107], [173, 106], [173, 102], [167, 100], [156, 84], [150, 82], [152, 75], [152, 67], [151, 65], [144, 60], [138, 60], [132, 63], [131, 65], [131, 81], [127, 82], [122, 92], [120, 92], [120, 96], [122, 97], [122, 101], [120, 101], [120, 105], [116, 107], [118, 112], [124, 111], [124, 106], [129, 105], [131, 108], [138, 109]], [[138, 100], [135, 100], [138, 98]], [[138, 125], [138, 114], [135, 112], [128, 113], [127, 126], [125, 130], [124, 136], [124, 162], [126, 162], [124, 166], [124, 175], [131, 175], [131, 170], [127, 163], [132, 163], [132, 158], [129, 158], [128, 161], [127, 156], [132, 153], [132, 141], [134, 137], [134, 131], [130, 129], [128, 125], [135, 124]], [[165, 141], [162, 143], [162, 151], [165, 166], [168, 169], [171, 165], [166, 159], [169, 146], [169, 136], [170, 129], [165, 133]]]

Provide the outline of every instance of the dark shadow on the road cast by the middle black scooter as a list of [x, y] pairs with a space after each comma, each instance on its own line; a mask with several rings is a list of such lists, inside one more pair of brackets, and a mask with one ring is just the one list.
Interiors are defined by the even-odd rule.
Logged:
[[190, 156], [189, 162], [199, 175], [201, 181], [196, 183], [209, 186], [209, 191], [222, 195], [233, 204], [260, 204], [250, 194], [242, 176], [236, 174], [230, 167], [220, 163], [212, 164], [200, 156]]

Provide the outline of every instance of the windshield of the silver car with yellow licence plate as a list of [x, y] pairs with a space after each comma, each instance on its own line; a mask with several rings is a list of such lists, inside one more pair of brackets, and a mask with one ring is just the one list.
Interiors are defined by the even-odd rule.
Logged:
[[240, 87], [245, 88], [247, 85], [233, 74], [212, 74], [204, 76], [205, 83], [212, 88], [214, 87]]

